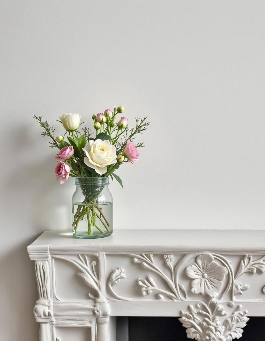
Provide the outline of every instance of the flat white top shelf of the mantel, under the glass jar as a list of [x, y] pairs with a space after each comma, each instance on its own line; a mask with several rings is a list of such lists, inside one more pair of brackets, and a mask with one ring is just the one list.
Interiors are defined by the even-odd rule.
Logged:
[[[42, 248], [43, 247], [43, 248]], [[45, 231], [28, 251], [265, 251], [265, 230], [115, 230], [99, 239], [75, 238], [70, 231]]]

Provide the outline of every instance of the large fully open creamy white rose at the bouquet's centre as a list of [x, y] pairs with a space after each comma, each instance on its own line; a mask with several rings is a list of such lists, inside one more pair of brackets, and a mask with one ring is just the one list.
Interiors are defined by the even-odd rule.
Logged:
[[107, 172], [107, 166], [117, 162], [116, 148], [108, 140], [90, 140], [83, 151], [87, 155], [84, 157], [84, 163], [100, 175]]

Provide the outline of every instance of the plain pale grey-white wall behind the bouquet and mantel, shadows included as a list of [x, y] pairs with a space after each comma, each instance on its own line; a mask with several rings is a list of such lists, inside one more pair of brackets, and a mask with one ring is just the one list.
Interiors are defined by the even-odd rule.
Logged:
[[[114, 228], [262, 229], [264, 1], [0, 2], [1, 339], [37, 340], [33, 263], [70, 228], [74, 180], [33, 119], [124, 105], [141, 163], [111, 183]], [[119, 233], [114, 231], [114, 233]], [[136, 232], [137, 233], [137, 232]], [[139, 235], [139, 238], [141, 236]]]

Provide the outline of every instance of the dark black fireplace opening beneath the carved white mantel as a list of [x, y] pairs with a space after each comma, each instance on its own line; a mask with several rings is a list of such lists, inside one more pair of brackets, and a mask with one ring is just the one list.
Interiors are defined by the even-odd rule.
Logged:
[[[265, 317], [250, 317], [240, 341], [263, 341]], [[187, 341], [178, 317], [117, 317], [117, 341]]]

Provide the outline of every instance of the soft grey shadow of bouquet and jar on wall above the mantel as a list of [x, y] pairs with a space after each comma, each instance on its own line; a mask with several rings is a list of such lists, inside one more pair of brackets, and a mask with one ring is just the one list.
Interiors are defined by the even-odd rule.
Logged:
[[[21, 217], [25, 223], [28, 220], [29, 226], [26, 228], [32, 232], [40, 229], [70, 229], [74, 179], [69, 178], [61, 185], [54, 174], [58, 150], [49, 149], [49, 138], [40, 136], [41, 128], [39, 131], [36, 129], [36, 134], [32, 132], [27, 135], [25, 131], [28, 131], [28, 127], [20, 126], [10, 132], [14, 138], [7, 152], [11, 160], [8, 160], [9, 171], [2, 187], [5, 202], [19, 200], [19, 205], [13, 211], [13, 219], [19, 220], [20, 224]], [[42, 143], [36, 144], [36, 135]], [[14, 157], [17, 146], [19, 153]]]

